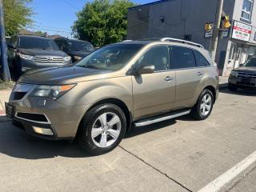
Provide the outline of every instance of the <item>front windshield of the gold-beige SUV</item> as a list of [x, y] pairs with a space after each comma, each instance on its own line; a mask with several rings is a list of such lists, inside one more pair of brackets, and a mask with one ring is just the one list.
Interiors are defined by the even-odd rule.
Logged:
[[76, 66], [96, 70], [120, 70], [142, 48], [138, 44], [115, 44], [104, 46], [83, 58]]

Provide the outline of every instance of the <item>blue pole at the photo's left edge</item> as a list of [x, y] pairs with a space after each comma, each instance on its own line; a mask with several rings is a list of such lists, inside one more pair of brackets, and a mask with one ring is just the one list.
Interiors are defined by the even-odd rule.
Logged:
[[3, 0], [0, 0], [0, 48], [3, 80], [7, 82], [10, 81], [10, 70], [7, 62], [6, 30], [3, 14]]

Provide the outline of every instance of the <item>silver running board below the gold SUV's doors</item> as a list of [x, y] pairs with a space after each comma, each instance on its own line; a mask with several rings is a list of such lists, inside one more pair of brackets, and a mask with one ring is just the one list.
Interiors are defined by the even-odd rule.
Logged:
[[168, 119], [172, 119], [172, 118], [178, 118], [182, 115], [185, 114], [190, 114], [191, 110], [179, 110], [178, 112], [172, 112], [169, 114], [162, 114], [162, 115], [158, 115], [152, 118], [145, 118], [142, 120], [139, 120], [138, 122], [134, 122], [135, 126], [148, 126], [150, 124], [153, 124], [155, 122], [162, 122], [162, 121], [166, 121]]

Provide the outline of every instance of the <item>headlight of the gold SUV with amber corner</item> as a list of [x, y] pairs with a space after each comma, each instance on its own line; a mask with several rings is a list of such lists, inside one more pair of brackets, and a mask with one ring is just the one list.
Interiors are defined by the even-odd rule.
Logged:
[[30, 96], [57, 99], [74, 86], [76, 86], [76, 84], [64, 86], [36, 86]]

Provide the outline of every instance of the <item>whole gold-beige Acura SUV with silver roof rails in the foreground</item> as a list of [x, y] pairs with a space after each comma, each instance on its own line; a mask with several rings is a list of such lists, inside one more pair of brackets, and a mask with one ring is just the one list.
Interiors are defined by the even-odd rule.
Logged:
[[208, 51], [163, 38], [104, 46], [74, 66], [28, 72], [6, 114], [29, 134], [77, 138], [91, 154], [104, 154], [131, 125], [186, 114], [203, 120], [217, 98], [218, 69]]

